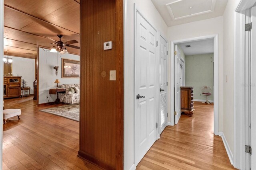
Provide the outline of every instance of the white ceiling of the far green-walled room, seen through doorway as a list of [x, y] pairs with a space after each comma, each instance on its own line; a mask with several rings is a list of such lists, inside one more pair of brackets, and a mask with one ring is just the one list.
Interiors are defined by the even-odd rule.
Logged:
[[[185, 47], [185, 45], [190, 45], [191, 47]], [[199, 55], [199, 54], [210, 54], [214, 52], [213, 38], [204, 39], [199, 41], [191, 41], [188, 43], [180, 43], [179, 46], [187, 55]]]

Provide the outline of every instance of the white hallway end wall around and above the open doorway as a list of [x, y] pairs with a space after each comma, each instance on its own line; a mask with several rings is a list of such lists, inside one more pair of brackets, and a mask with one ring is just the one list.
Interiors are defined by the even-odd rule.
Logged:
[[[191, 23], [185, 23], [182, 25], [176, 25], [168, 28], [168, 40], [174, 41], [174, 40], [181, 40], [181, 39], [188, 39], [188, 38], [194, 38], [194, 37], [201, 37], [206, 35], [214, 35], [218, 34], [218, 57], [219, 57], [219, 130], [222, 131], [222, 113], [223, 113], [223, 64], [222, 64], [222, 58], [223, 58], [223, 49], [222, 49], [222, 42], [223, 42], [223, 18], [216, 17], [211, 18], [208, 20], [201, 20], [201, 21], [195, 21]], [[170, 49], [170, 47], [169, 47]], [[168, 50], [170, 51], [170, 50]], [[171, 51], [172, 53], [172, 51]], [[170, 54], [170, 53], [169, 53]], [[170, 58], [170, 55], [169, 55]], [[232, 63], [230, 63], [232, 64]], [[170, 62], [168, 62], [168, 72], [171, 70]], [[170, 76], [168, 76], [168, 82], [170, 82]], [[170, 86], [169, 92], [170, 92]], [[170, 101], [170, 96], [168, 96], [168, 100]], [[171, 107], [168, 105], [168, 113], [170, 113]], [[168, 116], [168, 121], [170, 122], [170, 116]]]

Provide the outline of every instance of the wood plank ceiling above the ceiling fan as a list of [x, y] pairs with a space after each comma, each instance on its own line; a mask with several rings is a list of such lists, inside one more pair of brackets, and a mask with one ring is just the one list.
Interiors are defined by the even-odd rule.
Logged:
[[[80, 47], [80, 0], [4, 0], [4, 50], [8, 55], [35, 59], [37, 46], [52, 48], [58, 41], [76, 40]], [[79, 49], [66, 47], [80, 55]], [[4, 52], [5, 54], [5, 52]]]

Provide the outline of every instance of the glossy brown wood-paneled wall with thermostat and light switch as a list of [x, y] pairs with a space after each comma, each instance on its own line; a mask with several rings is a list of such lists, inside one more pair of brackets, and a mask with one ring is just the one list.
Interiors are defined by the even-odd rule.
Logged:
[[[120, 9], [119, 9], [120, 8]], [[123, 167], [123, 2], [80, 2], [80, 147], [78, 156]], [[103, 50], [103, 43], [113, 49]], [[116, 81], [109, 71], [116, 70]]]

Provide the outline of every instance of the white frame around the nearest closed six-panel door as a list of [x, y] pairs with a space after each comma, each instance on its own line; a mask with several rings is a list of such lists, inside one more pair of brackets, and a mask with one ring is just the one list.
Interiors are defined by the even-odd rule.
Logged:
[[[136, 57], [136, 45], [137, 45], [137, 42], [136, 42], [136, 24], [137, 24], [137, 18], [136, 18], [136, 13], [138, 12], [142, 18], [144, 18], [144, 20], [146, 20], [148, 22], [148, 24], [150, 26], [152, 26], [155, 30], [156, 30], [156, 41], [159, 41], [159, 35], [160, 35], [160, 32], [156, 29], [156, 27], [154, 25], [152, 25], [145, 17], [144, 15], [140, 12], [141, 10], [139, 8], [136, 7], [136, 4], [134, 3], [134, 92], [133, 94], [135, 95], [135, 92], [136, 92], [136, 60], [135, 60], [135, 57]], [[168, 41], [167, 41], [168, 42]], [[157, 74], [158, 72], [158, 74]], [[156, 100], [159, 101], [159, 92], [158, 92], [158, 89], [159, 89], [159, 81], [157, 80], [157, 76], [159, 76], [159, 46], [156, 47]], [[159, 110], [159, 102], [156, 101], [156, 110], [158, 111]], [[133, 104], [134, 104], [134, 165], [135, 167], [137, 166], [137, 163], [139, 162], [136, 162], [136, 158], [137, 158], [137, 155], [136, 155], [136, 98], [134, 96], [134, 101], [133, 101]], [[155, 118], [156, 118], [156, 122], [159, 122], [159, 119], [158, 119], [158, 113], [156, 112], [155, 113]], [[156, 140], [159, 138], [159, 123], [158, 123], [158, 127], [156, 128]]]

